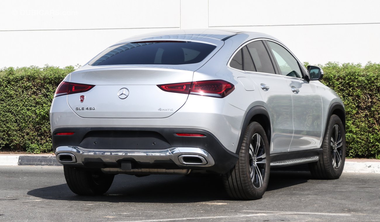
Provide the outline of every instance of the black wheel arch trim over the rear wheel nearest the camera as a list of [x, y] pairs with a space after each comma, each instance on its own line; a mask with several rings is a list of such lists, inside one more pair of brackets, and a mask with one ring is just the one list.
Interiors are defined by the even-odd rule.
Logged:
[[236, 152], [235, 152], [236, 154], [238, 154], [240, 152], [240, 148], [241, 148], [241, 145], [242, 145], [243, 139], [244, 139], [244, 130], [247, 129], [249, 123], [251, 122], [252, 118], [255, 115], [265, 115], [266, 118], [268, 118], [267, 120], [264, 120], [267, 125], [263, 126], [263, 128], [264, 128], [265, 133], [267, 135], [269, 145], [271, 144], [271, 132], [272, 132], [272, 130], [271, 130], [271, 118], [269, 117], [268, 110], [265, 109], [265, 107], [263, 107], [261, 105], [256, 105], [256, 106], [252, 107], [250, 110], [248, 110], [247, 115], [245, 115], [244, 122], [243, 122], [241, 132], [240, 132], [239, 142], [237, 143], [237, 148], [236, 148]]

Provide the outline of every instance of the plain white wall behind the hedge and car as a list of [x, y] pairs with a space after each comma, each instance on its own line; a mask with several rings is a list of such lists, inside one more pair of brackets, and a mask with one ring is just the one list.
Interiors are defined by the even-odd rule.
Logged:
[[12, 0], [0, 3], [0, 67], [85, 64], [152, 31], [224, 28], [282, 40], [301, 61], [380, 62], [378, 0]]

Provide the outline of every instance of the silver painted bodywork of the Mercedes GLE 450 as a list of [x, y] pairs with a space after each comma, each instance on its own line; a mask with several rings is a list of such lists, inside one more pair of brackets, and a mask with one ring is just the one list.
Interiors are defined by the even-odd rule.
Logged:
[[[188, 65], [82, 66], [64, 80], [96, 85], [81, 94], [53, 99], [51, 130], [70, 127], [193, 128], [211, 132], [226, 149], [235, 153], [244, 133], [247, 112], [260, 105], [271, 119], [271, 153], [319, 148], [326, 128], [329, 107], [343, 105], [339, 96], [319, 81], [261, 72], [244, 72], [228, 66], [245, 44], [265, 39], [283, 45], [278, 39], [254, 32], [172, 30], [125, 39], [186, 40], [213, 44], [216, 49], [203, 61]], [[284, 46], [284, 45], [283, 45]], [[159, 84], [222, 79], [235, 86], [225, 98], [169, 93]], [[264, 91], [261, 85], [269, 90]], [[292, 87], [299, 89], [293, 93]], [[129, 90], [120, 99], [118, 91]], [[84, 95], [84, 102], [79, 96]], [[95, 110], [75, 110], [95, 107]], [[159, 108], [167, 111], [160, 111]]]

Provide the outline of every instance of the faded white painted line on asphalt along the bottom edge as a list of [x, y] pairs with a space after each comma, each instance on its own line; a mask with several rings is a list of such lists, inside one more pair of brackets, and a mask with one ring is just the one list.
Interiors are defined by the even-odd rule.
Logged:
[[175, 220], [218, 219], [218, 218], [230, 218], [230, 217], [253, 217], [253, 216], [286, 215], [286, 214], [318, 214], [318, 215], [332, 215], [332, 216], [350, 216], [351, 215], [351, 214], [292, 212], [292, 211], [250, 211], [250, 210], [244, 210], [241, 212], [260, 212], [260, 213], [230, 215], [230, 216], [213, 216], [213, 217], [182, 217], [182, 218], [155, 219], [155, 220], [127, 220], [127, 221], [119, 221], [119, 222], [160, 222], [160, 221], [175, 221]]

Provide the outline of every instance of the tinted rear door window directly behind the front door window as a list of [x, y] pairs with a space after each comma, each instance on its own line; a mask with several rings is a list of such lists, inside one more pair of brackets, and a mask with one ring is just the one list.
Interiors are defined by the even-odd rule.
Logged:
[[258, 72], [275, 74], [271, 58], [262, 41], [249, 43], [247, 47]]

